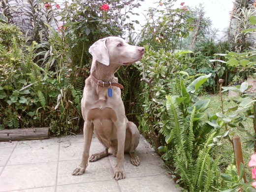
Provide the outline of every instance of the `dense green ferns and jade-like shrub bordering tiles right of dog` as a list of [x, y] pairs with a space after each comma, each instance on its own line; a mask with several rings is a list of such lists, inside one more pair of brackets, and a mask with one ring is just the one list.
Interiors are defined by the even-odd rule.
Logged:
[[184, 188], [212, 190], [218, 183], [219, 159], [213, 159], [208, 144], [216, 132], [212, 133], [215, 128], [205, 120], [210, 100], [195, 96], [211, 74], [195, 78], [183, 71], [192, 61], [191, 51], [156, 52], [148, 46], [145, 51], [137, 62], [147, 83], [141, 94], [145, 99], [141, 130], [152, 139], [166, 164], [174, 166], [177, 182]]

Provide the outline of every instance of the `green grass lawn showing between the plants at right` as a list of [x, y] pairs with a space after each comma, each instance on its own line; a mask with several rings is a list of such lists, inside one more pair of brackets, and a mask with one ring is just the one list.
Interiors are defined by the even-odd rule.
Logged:
[[[200, 98], [201, 99], [211, 99], [208, 110], [212, 114], [222, 111], [220, 95], [200, 96]], [[240, 97], [232, 97], [232, 98], [235, 98], [237, 100], [240, 99]], [[231, 108], [231, 107], [235, 106], [235, 103], [233, 101], [227, 102], [227, 100], [230, 99], [230, 97], [223, 95], [223, 99], [224, 99], [224, 109]], [[252, 134], [254, 133], [252, 119], [248, 118], [248, 120], [246, 122], [243, 122], [243, 125], [250, 133], [252, 133]], [[220, 131], [220, 134], [224, 134], [225, 128], [223, 127], [221, 129], [222, 130]], [[246, 167], [246, 172], [250, 173], [251, 168], [248, 167], [248, 162], [250, 160], [251, 155], [254, 154], [254, 150], [253, 150], [253, 148], [246, 149], [247, 135], [245, 132], [242, 132], [242, 131], [238, 130], [237, 128], [233, 128], [231, 132], [232, 132], [233, 136], [237, 135], [241, 138], [244, 165]], [[216, 152], [216, 154], [221, 155], [221, 160], [220, 160], [221, 168], [225, 168], [230, 163], [235, 164], [235, 161], [234, 161], [235, 158], [234, 158], [234, 154], [233, 154], [232, 144], [227, 139], [223, 140], [223, 145], [221, 145], [220, 147], [217, 147], [215, 149], [215, 152]]]

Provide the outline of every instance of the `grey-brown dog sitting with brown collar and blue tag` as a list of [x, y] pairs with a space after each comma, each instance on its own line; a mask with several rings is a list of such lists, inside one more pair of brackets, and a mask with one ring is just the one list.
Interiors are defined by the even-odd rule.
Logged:
[[82, 175], [88, 166], [89, 150], [93, 133], [105, 147], [93, 154], [89, 161], [96, 161], [109, 154], [117, 158], [114, 179], [124, 179], [124, 153], [129, 153], [131, 163], [140, 164], [135, 149], [139, 144], [139, 131], [129, 122], [121, 98], [123, 86], [114, 76], [121, 65], [139, 61], [144, 47], [129, 45], [121, 37], [106, 37], [97, 40], [90, 48], [93, 56], [90, 76], [85, 81], [81, 110], [84, 119], [84, 150], [80, 165], [72, 175]]

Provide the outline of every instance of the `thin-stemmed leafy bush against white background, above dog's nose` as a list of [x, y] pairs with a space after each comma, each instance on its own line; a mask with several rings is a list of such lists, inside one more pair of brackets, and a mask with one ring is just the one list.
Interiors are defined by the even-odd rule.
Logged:
[[163, 0], [156, 7], [149, 8], [147, 23], [140, 34], [141, 44], [170, 52], [182, 48], [182, 40], [193, 30], [193, 19], [186, 6], [174, 9], [175, 1]]

